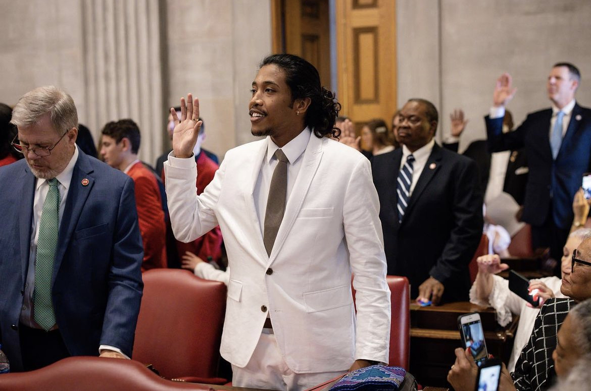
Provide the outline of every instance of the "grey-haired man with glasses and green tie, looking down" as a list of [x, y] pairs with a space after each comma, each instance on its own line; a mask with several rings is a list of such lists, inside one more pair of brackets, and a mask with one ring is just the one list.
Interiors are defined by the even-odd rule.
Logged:
[[40, 87], [12, 113], [25, 159], [0, 169], [0, 339], [11, 370], [131, 356], [142, 295], [134, 182], [75, 144], [72, 97]]

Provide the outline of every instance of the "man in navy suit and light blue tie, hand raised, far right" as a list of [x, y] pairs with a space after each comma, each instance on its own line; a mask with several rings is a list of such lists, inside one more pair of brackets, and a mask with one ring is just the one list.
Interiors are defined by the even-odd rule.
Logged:
[[555, 64], [547, 82], [552, 107], [530, 113], [514, 132], [502, 133], [505, 106], [515, 95], [511, 76], [505, 73], [485, 118], [491, 152], [525, 148], [530, 173], [522, 220], [532, 226], [534, 249], [550, 247], [554, 259], [560, 259], [573, 222], [574, 193], [590, 170], [591, 110], [574, 100], [579, 83], [573, 64]]

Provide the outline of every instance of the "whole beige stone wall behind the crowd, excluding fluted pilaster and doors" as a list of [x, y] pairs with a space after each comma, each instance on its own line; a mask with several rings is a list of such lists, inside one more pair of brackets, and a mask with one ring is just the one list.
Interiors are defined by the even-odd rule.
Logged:
[[[74, 97], [81, 122], [97, 110], [89, 107], [85, 83], [83, 1], [0, 0], [0, 102], [13, 105], [34, 87], [56, 84]], [[160, 10], [164, 106], [187, 92], [200, 97], [204, 146], [219, 155], [251, 141], [248, 90], [258, 61], [271, 50], [270, 2], [147, 1]], [[449, 133], [449, 112], [462, 107], [470, 119], [463, 149], [484, 137], [482, 116], [499, 74], [514, 76], [519, 90], [509, 109], [519, 123], [548, 106], [548, 70], [566, 60], [580, 67], [577, 98], [589, 106], [590, 19], [591, 2], [579, 0], [397, 0], [398, 103], [433, 100], [442, 119], [438, 136]], [[150, 137], [165, 137], [166, 109]]]

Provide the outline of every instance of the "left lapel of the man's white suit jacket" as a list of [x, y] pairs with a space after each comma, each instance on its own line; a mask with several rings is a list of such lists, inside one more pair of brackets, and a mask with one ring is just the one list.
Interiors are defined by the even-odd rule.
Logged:
[[249, 232], [253, 235], [251, 243], [254, 247], [254, 250], [258, 253], [259, 259], [265, 259], [265, 257], [267, 257], [267, 250], [265, 249], [265, 243], [262, 239], [262, 232], [260, 228], [261, 221], [259, 221], [258, 214], [256, 214], [254, 191], [259, 172], [261, 171], [263, 159], [267, 153], [267, 145], [268, 141], [266, 139], [262, 140], [259, 143], [258, 149], [256, 149], [254, 156], [252, 156], [252, 167], [251, 171], [249, 172], [249, 177], [246, 178], [246, 187], [244, 191], [245, 211], [246, 214], [248, 214], [248, 219], [251, 221], [252, 226], [256, 227], [256, 229], [250, 230]]

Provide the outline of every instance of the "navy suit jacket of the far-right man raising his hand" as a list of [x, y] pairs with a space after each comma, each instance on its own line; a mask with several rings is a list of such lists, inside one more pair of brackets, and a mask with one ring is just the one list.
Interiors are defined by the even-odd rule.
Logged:
[[[519, 128], [502, 133], [502, 118], [485, 117], [489, 151], [525, 148], [530, 174], [525, 190], [522, 219], [541, 226], [550, 203], [557, 227], [567, 229], [573, 221], [573, 197], [591, 157], [591, 110], [574, 105], [556, 160], [550, 149], [552, 109], [530, 113]], [[552, 194], [552, 196], [550, 196]]]

